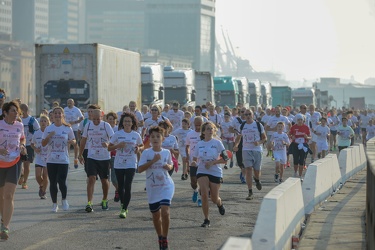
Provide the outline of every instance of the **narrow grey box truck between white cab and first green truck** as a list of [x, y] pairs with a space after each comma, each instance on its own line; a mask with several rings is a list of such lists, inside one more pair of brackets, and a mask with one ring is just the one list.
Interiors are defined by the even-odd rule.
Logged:
[[208, 71], [195, 71], [195, 102], [197, 105], [211, 102], [215, 105], [214, 81]]

